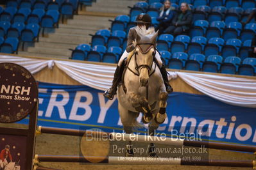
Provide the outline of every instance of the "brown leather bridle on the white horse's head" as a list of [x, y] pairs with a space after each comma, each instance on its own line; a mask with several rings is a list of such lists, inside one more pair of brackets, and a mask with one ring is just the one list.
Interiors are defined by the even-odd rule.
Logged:
[[[141, 47], [141, 45], [148, 45], [148, 47], [147, 47], [147, 49], [146, 50], [142, 50], [142, 47]], [[148, 53], [149, 52], [149, 50], [150, 49], [152, 49], [152, 48], [154, 48], [154, 53], [153, 53], [153, 58], [155, 58], [155, 54], [156, 54], [156, 49], [155, 49], [155, 45], [153, 44], [153, 43], [139, 43], [139, 44], [137, 44], [136, 45], [136, 47], [135, 47], [135, 49], [137, 49], [137, 47], [139, 47], [139, 50], [140, 50], [140, 52], [142, 53], [142, 54], [146, 54], [146, 53]], [[152, 59], [152, 63], [151, 63], [151, 65], [138, 65], [138, 63], [137, 63], [137, 52], [134, 52], [133, 53], [133, 55], [134, 55], [134, 57], [135, 57], [135, 70], [137, 71], [137, 72], [134, 72], [128, 65], [127, 65], [127, 68], [128, 68], [128, 70], [130, 70], [130, 72], [132, 72], [133, 74], [135, 74], [135, 75], [137, 75], [137, 76], [139, 76], [140, 75], [140, 73], [141, 73], [141, 69], [142, 68], [147, 68], [147, 70], [148, 70], [148, 73], [150, 73], [150, 71], [151, 71], [151, 69], [152, 69], [152, 66], [153, 66], [153, 59]], [[129, 64], [129, 63], [128, 63]], [[155, 68], [156, 68], [156, 64], [155, 64]], [[154, 68], [154, 70], [153, 70], [153, 72], [151, 72], [150, 74], [149, 74], [149, 77], [155, 72], [155, 68]]]

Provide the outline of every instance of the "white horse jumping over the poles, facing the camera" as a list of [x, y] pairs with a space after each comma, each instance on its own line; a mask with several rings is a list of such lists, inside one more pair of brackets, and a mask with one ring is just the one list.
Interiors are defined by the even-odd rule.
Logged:
[[[126, 134], [140, 126], [136, 118], [142, 112], [142, 122], [149, 123], [149, 135], [155, 135], [158, 125], [166, 119], [168, 93], [154, 59], [157, 33], [137, 29], [137, 35], [133, 42], [135, 50], [128, 55], [123, 85], [117, 89], [118, 110]], [[131, 141], [126, 145], [126, 156], [133, 156]], [[156, 156], [153, 143], [149, 156]]]

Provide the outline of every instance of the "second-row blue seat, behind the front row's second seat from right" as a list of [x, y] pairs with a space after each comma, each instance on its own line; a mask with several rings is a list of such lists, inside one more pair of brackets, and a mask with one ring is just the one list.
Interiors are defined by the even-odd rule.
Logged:
[[238, 56], [239, 49], [242, 45], [241, 40], [236, 38], [231, 38], [226, 41], [221, 51], [221, 56], [227, 58], [229, 56]]

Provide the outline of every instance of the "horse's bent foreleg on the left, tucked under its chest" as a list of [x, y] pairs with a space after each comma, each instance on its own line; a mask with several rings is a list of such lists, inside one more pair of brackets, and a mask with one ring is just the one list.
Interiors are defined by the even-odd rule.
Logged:
[[143, 112], [143, 123], [149, 123], [153, 119], [153, 114], [151, 114], [151, 107], [148, 104], [148, 100], [145, 97], [141, 97], [134, 92], [127, 93], [128, 101], [132, 106], [138, 111]]

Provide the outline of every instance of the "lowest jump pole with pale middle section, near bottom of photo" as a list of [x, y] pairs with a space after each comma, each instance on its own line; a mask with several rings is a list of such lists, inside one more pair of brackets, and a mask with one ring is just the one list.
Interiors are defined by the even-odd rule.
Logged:
[[[81, 157], [60, 155], [35, 155], [39, 162], [83, 162], [101, 164], [136, 164], [136, 165], [181, 165], [181, 166], [226, 166], [226, 167], [252, 167], [255, 160], [183, 160], [181, 158], [152, 158], [152, 157]], [[87, 160], [88, 159], [88, 160]]]

